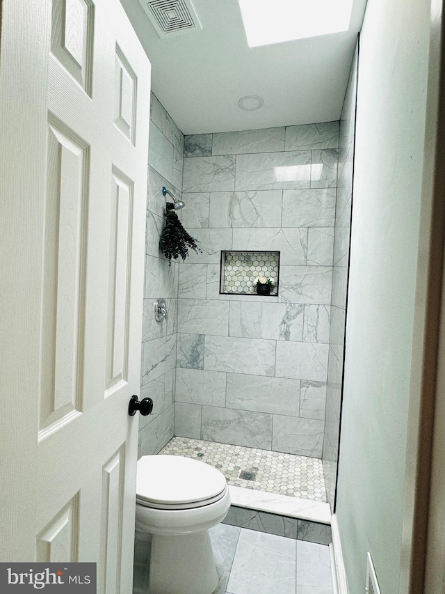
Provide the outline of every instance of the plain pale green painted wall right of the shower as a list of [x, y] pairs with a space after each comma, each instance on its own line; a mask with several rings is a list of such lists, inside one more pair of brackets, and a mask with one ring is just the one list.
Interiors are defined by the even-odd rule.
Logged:
[[427, 0], [369, 0], [362, 30], [337, 494], [353, 594], [367, 551], [398, 592], [428, 20]]

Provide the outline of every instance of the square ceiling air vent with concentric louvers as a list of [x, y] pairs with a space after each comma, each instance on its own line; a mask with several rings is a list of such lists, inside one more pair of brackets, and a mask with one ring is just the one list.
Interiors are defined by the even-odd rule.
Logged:
[[159, 37], [200, 31], [202, 26], [191, 0], [139, 0]]

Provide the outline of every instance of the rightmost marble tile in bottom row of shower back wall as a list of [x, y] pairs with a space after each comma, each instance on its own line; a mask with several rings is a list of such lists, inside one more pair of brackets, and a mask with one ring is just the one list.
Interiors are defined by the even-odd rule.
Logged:
[[[324, 429], [324, 421], [274, 414], [272, 449], [321, 458]], [[301, 493], [304, 495], [304, 490]]]

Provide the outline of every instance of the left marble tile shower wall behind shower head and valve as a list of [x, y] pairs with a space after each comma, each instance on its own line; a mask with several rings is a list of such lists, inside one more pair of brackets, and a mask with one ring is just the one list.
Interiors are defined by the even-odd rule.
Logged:
[[[153, 399], [150, 416], [140, 416], [139, 455], [158, 453], [173, 437], [177, 342], [179, 265], [163, 258], [159, 236], [163, 228], [165, 197], [162, 187], [181, 195], [184, 134], [152, 95], [149, 129], [145, 293], [140, 398]], [[154, 302], [167, 302], [168, 320], [154, 320]]]

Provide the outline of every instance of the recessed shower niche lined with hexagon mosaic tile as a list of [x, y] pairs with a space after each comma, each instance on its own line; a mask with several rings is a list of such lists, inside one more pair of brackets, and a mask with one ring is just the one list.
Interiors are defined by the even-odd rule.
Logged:
[[258, 276], [274, 279], [270, 295], [278, 295], [279, 251], [222, 251], [220, 293], [257, 295]]

